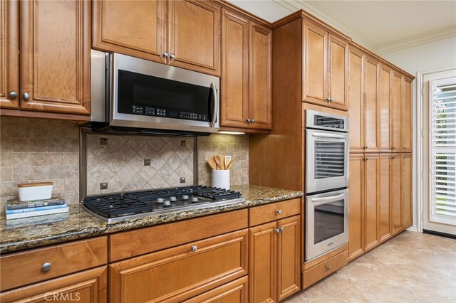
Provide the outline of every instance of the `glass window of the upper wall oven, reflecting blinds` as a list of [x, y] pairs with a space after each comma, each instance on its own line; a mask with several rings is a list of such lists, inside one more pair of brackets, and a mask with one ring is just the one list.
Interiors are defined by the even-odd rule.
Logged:
[[315, 179], [344, 176], [345, 143], [315, 142]]

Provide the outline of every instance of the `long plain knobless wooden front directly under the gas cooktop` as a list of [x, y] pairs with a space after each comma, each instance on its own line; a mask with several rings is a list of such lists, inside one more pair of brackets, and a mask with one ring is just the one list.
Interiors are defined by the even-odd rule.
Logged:
[[110, 262], [247, 228], [247, 209], [110, 235]]

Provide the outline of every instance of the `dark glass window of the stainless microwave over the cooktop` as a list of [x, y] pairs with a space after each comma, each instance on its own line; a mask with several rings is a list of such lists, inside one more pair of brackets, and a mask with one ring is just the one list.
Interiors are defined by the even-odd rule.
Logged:
[[118, 112], [183, 118], [182, 112], [211, 121], [212, 88], [118, 70]]

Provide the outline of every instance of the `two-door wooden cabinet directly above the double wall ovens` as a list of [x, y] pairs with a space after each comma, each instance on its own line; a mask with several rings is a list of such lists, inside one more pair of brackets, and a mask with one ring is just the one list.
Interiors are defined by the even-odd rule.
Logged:
[[348, 41], [304, 20], [303, 101], [347, 110]]

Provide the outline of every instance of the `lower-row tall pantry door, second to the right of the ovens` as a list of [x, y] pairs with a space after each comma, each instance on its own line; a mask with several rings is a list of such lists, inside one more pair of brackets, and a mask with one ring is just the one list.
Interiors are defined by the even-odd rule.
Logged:
[[379, 155], [366, 155], [364, 180], [366, 188], [365, 197], [365, 228], [366, 228], [366, 251], [380, 243], [380, 221], [378, 216], [378, 166]]

